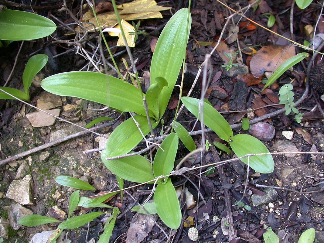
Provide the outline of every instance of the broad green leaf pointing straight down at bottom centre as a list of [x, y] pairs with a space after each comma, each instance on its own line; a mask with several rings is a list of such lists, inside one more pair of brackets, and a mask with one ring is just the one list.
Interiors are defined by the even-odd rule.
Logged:
[[154, 192], [154, 203], [157, 214], [163, 223], [171, 229], [178, 229], [182, 215], [177, 193], [170, 178], [165, 184], [157, 184]]

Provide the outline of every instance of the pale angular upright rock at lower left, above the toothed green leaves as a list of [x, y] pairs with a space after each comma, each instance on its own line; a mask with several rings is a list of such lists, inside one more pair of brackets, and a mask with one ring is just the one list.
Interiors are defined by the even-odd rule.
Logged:
[[22, 205], [34, 205], [34, 182], [31, 175], [12, 181], [6, 196]]

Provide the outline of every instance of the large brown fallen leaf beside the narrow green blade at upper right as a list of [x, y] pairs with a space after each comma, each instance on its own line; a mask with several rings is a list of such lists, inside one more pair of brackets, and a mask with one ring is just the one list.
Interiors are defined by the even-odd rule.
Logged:
[[251, 73], [260, 77], [264, 72], [274, 72], [284, 61], [295, 56], [295, 53], [295, 46], [264, 46], [251, 58]]

